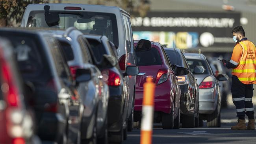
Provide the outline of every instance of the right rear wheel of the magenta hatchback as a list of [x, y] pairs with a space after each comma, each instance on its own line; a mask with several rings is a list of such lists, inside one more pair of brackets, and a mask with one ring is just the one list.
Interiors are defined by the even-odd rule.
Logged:
[[163, 129], [173, 129], [174, 119], [173, 119], [173, 107], [171, 113], [162, 114], [162, 127]]

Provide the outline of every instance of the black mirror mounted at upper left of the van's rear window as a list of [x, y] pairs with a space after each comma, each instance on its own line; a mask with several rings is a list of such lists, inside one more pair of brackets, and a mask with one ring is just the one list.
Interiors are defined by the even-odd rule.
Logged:
[[45, 9], [45, 22], [46, 24], [51, 26], [56, 26], [59, 24], [59, 14], [58, 13], [49, 13], [50, 6], [44, 6]]

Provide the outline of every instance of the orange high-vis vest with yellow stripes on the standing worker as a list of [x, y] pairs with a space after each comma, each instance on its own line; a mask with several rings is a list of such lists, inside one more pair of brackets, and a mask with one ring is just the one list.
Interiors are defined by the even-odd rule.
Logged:
[[[232, 75], [244, 84], [256, 84], [256, 48], [250, 41], [241, 41], [240, 50], [235, 46], [230, 63], [237, 65]], [[241, 49], [242, 48], [242, 49]], [[239, 57], [241, 55], [241, 57]]]

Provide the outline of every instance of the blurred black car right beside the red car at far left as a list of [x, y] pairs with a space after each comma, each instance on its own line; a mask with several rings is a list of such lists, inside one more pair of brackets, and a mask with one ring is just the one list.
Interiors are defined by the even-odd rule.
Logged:
[[[51, 33], [22, 29], [0, 29], [11, 41], [24, 81], [31, 83], [30, 106], [35, 111], [36, 134], [42, 141], [76, 143], [80, 131], [79, 98], [69, 67], [57, 39]], [[78, 69], [76, 83], [90, 79]]]

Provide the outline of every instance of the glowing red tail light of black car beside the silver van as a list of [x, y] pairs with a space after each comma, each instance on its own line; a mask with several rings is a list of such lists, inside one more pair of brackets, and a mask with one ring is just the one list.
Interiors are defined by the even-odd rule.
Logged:
[[102, 71], [103, 80], [109, 86], [119, 86], [121, 84], [121, 78], [119, 74], [113, 72], [112, 70], [103, 70]]

